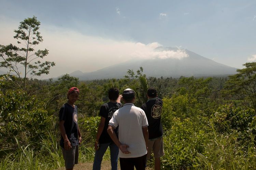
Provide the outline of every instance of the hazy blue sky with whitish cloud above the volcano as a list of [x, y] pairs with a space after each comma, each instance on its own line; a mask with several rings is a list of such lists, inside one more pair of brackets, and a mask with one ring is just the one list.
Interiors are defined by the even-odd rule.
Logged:
[[[16, 43], [25, 18], [41, 22], [54, 61], [49, 75], [95, 71], [132, 58], [159, 54], [158, 46], [186, 48], [218, 63], [242, 68], [256, 61], [255, 0], [0, 0], [0, 44]], [[185, 56], [187, 57], [187, 56]]]

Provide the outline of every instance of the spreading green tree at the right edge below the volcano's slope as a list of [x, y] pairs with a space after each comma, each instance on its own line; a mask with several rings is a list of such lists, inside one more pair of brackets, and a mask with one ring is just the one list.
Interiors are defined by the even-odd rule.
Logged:
[[243, 66], [245, 68], [237, 69], [237, 74], [229, 76], [223, 94], [236, 97], [246, 108], [256, 111], [256, 62], [245, 63]]

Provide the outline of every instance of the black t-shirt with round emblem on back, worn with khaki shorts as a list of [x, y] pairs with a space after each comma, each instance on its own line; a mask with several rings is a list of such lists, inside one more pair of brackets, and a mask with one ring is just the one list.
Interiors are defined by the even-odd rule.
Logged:
[[148, 139], [155, 139], [163, 135], [161, 123], [162, 105], [162, 99], [152, 98], [141, 106], [147, 116]]

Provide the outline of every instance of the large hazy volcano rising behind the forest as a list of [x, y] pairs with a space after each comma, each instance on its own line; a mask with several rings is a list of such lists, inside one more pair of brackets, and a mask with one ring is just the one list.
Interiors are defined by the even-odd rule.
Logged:
[[[180, 49], [158, 47], [155, 49], [155, 52], [177, 52], [178, 50]], [[81, 71], [76, 71], [72, 73], [72, 76], [78, 77], [79, 80], [124, 78], [128, 69], [132, 69], [136, 72], [140, 66], [143, 67], [143, 73], [146, 74], [147, 77], [206, 77], [231, 75], [236, 73], [237, 68], [217, 63], [187, 49], [182, 49], [182, 51], [187, 54], [187, 57], [181, 59], [170, 57], [166, 59], [130, 60], [93, 72], [82, 73]]]

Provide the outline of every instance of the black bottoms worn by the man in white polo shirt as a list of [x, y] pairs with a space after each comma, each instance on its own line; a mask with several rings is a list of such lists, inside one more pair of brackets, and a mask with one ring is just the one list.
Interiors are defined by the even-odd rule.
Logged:
[[119, 158], [121, 170], [134, 170], [134, 166], [137, 170], [145, 170], [147, 154], [136, 158]]

